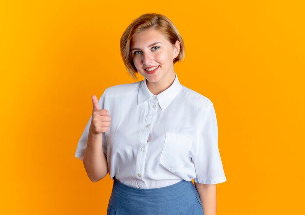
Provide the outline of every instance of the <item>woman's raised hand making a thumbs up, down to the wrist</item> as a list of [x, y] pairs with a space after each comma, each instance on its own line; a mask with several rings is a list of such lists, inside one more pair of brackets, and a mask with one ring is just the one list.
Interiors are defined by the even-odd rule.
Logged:
[[92, 120], [89, 131], [94, 134], [104, 133], [109, 130], [111, 117], [109, 111], [101, 109], [98, 105], [98, 100], [95, 95], [92, 96]]

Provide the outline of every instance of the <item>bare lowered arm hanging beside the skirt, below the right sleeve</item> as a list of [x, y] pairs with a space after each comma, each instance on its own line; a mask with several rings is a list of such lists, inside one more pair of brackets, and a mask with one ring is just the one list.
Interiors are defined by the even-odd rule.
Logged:
[[216, 184], [195, 183], [204, 215], [216, 215]]

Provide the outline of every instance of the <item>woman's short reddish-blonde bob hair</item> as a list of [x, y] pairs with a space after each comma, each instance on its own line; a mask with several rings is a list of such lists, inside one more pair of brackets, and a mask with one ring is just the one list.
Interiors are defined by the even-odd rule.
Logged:
[[172, 43], [172, 45], [179, 40], [180, 53], [175, 59], [173, 59], [173, 63], [184, 59], [184, 43], [172, 21], [161, 14], [143, 14], [133, 20], [133, 22], [126, 28], [120, 39], [121, 55], [127, 72], [133, 77], [133, 79], [137, 79], [135, 73], [138, 73], [138, 71], [133, 64], [133, 57], [130, 51], [131, 41], [136, 34], [150, 28], [158, 30], [160, 33], [162, 33], [163, 36], [165, 36]]

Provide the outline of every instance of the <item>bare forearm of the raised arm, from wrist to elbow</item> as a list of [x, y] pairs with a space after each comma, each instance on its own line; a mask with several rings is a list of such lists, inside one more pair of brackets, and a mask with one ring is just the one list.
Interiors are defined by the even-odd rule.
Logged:
[[89, 131], [83, 163], [89, 179], [93, 182], [103, 179], [108, 173], [102, 147], [102, 134], [95, 135]]

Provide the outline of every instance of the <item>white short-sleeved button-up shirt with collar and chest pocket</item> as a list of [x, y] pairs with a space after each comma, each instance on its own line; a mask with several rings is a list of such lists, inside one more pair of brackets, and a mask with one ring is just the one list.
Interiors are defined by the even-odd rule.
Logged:
[[[180, 84], [158, 95], [146, 79], [104, 90], [98, 101], [111, 116], [102, 133], [108, 171], [122, 183], [136, 188], [169, 186], [182, 179], [202, 184], [226, 181], [219, 149], [212, 102]], [[83, 161], [90, 117], [76, 148]]]

